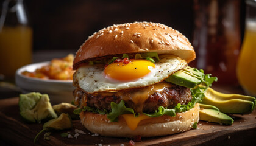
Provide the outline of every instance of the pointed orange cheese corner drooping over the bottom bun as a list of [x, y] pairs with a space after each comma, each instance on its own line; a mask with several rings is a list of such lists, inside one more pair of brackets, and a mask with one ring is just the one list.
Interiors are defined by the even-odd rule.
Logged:
[[133, 114], [122, 114], [121, 116], [124, 117], [124, 120], [126, 120], [126, 123], [131, 130], [135, 130], [141, 120], [151, 118], [145, 114], [140, 114], [138, 117], [135, 117]]

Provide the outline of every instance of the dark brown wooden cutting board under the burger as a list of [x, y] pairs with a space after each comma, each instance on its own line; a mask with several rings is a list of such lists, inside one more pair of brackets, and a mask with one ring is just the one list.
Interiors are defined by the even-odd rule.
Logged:
[[[21, 120], [18, 109], [18, 97], [0, 100], [0, 138], [11, 145], [33, 145], [35, 135], [42, 124], [27, 124]], [[245, 145], [256, 143], [256, 110], [249, 115], [232, 115], [232, 126], [200, 121], [197, 129], [171, 136], [142, 138], [135, 145]], [[43, 134], [36, 145], [128, 145], [130, 139], [95, 136], [80, 124], [73, 121], [71, 130], [52, 132], [50, 140], [44, 140]], [[63, 132], [82, 130], [86, 134], [77, 138], [61, 137]]]

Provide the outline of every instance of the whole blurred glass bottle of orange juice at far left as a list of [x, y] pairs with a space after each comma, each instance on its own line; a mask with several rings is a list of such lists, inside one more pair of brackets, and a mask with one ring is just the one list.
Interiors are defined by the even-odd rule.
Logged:
[[31, 60], [32, 29], [23, 0], [5, 0], [0, 15], [0, 74], [12, 79], [16, 69]]

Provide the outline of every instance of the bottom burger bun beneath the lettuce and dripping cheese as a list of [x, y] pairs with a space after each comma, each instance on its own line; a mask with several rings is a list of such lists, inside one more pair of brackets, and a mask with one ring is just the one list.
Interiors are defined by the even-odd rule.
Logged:
[[131, 130], [123, 117], [118, 122], [110, 122], [106, 115], [81, 112], [80, 119], [87, 130], [101, 136], [110, 137], [153, 137], [180, 133], [191, 129], [194, 122], [199, 121], [199, 104], [194, 108], [176, 113], [175, 117], [163, 115], [141, 120], [135, 130]]

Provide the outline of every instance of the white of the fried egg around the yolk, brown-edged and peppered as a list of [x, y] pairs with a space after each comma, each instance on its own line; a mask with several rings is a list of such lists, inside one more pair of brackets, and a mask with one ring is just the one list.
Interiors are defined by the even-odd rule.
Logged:
[[107, 78], [104, 74], [103, 64], [94, 64], [93, 66], [81, 66], [74, 74], [74, 82], [88, 93], [103, 91], [118, 91], [130, 88], [140, 88], [162, 82], [169, 75], [187, 66], [185, 60], [174, 55], [160, 55], [160, 61], [155, 64], [155, 68], [150, 68], [151, 72], [142, 78], [131, 81], [117, 81]]

